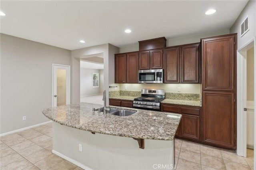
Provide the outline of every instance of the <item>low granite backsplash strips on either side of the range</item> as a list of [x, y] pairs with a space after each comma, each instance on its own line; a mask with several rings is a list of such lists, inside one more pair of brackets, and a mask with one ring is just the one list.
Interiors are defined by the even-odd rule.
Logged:
[[[118, 96], [132, 96], [132, 97], [140, 97], [140, 91], [110, 91], [109, 97], [118, 97]], [[176, 99], [176, 100], [189, 100], [189, 101], [201, 101], [202, 96], [200, 94], [193, 93], [165, 93], [166, 99]]]

